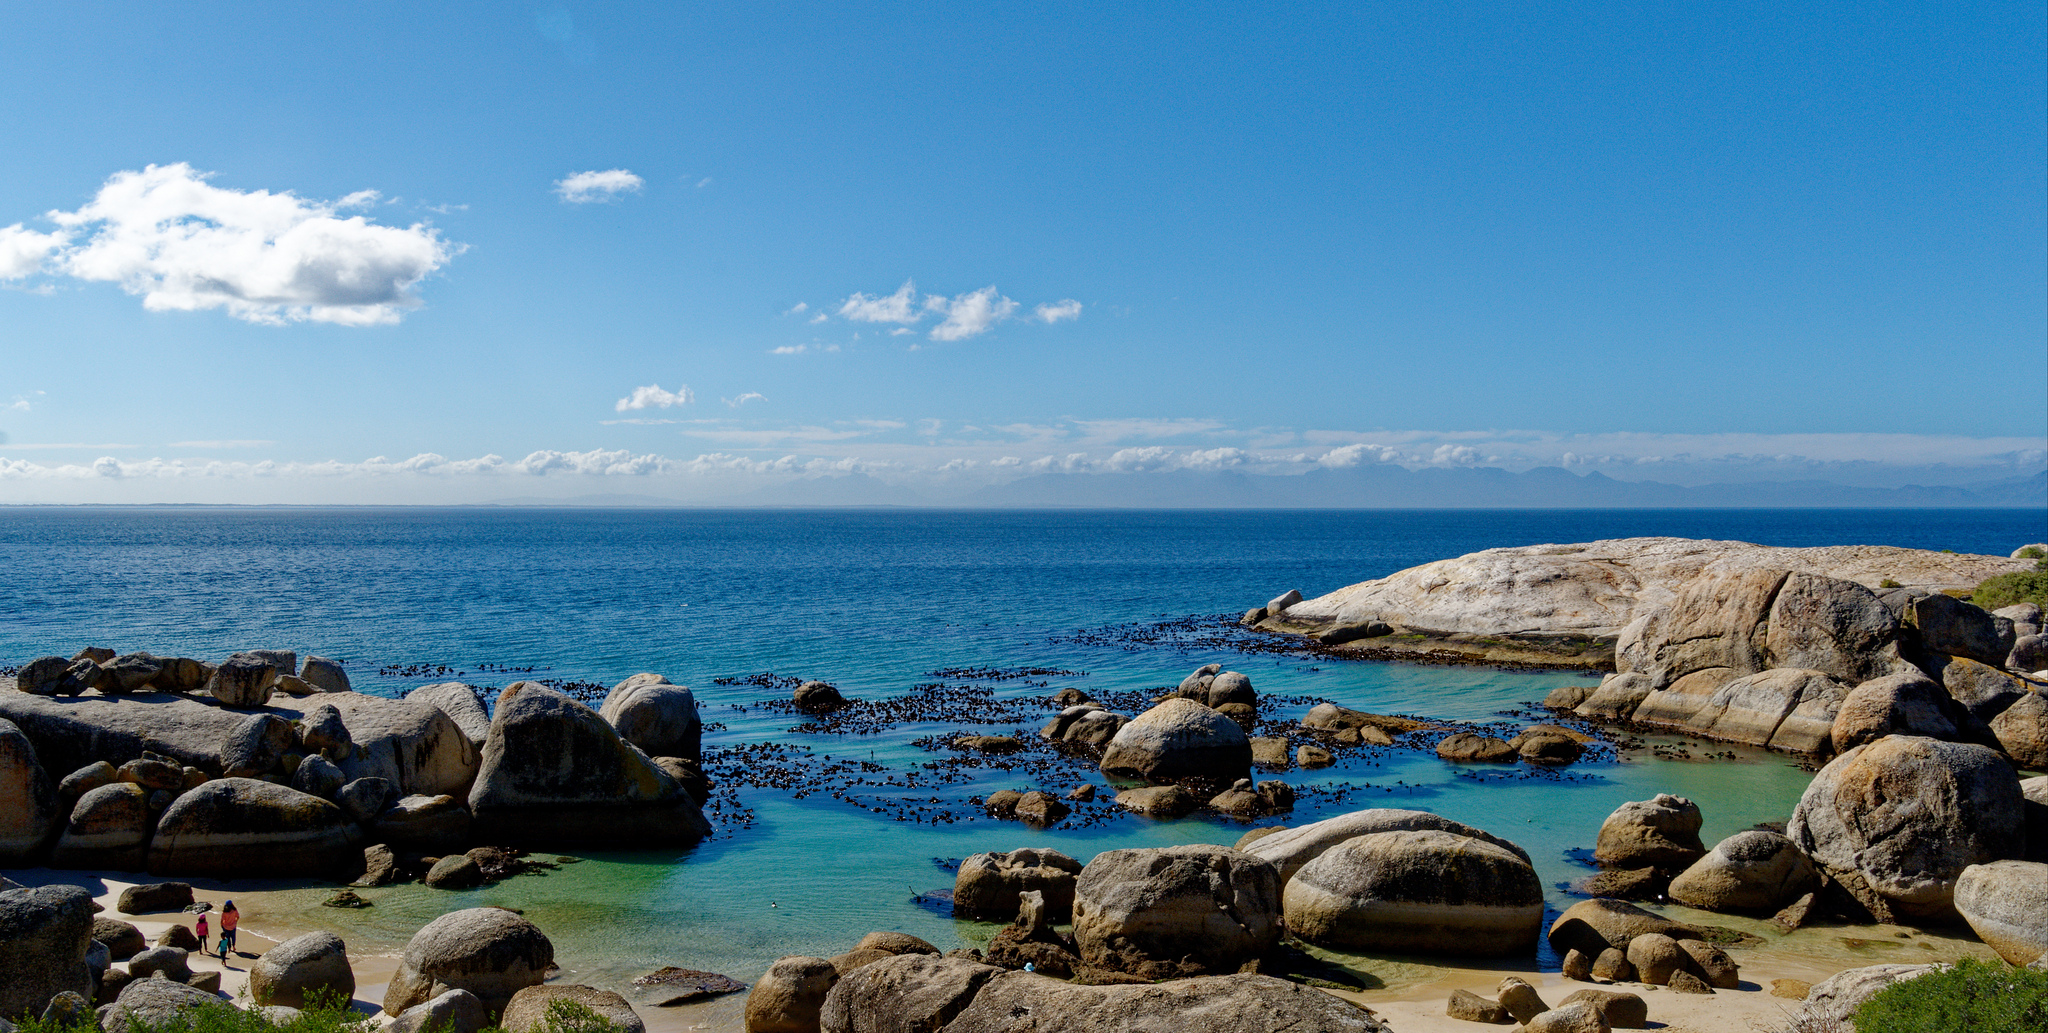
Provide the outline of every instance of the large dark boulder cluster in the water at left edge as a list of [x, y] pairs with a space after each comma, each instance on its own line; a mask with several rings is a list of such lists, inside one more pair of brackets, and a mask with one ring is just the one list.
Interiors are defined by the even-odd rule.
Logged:
[[[72, 674], [53, 680], [59, 664]], [[709, 834], [696, 701], [659, 674], [618, 683], [600, 711], [514, 683], [494, 715], [469, 685], [373, 697], [283, 650], [186, 668], [86, 650], [0, 691], [0, 863], [379, 883], [483, 842]]]

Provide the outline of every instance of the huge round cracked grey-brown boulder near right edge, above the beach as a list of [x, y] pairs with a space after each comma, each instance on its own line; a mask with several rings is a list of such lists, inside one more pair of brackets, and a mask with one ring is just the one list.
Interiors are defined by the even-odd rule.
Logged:
[[1942, 920], [1962, 869], [2021, 857], [2021, 801], [1991, 748], [1886, 736], [1821, 769], [1786, 836], [1878, 920]]

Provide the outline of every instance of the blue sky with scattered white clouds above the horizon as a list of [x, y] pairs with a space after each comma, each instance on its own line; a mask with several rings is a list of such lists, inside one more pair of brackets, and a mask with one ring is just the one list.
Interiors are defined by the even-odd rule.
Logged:
[[0, 502], [2032, 473], [2044, 33], [2040, 4], [12, 4]]

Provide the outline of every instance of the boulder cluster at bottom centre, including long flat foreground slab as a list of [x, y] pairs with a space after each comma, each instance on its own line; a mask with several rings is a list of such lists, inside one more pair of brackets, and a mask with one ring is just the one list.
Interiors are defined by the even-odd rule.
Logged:
[[[956, 908], [1014, 914], [987, 951], [870, 933], [836, 957], [782, 957], [754, 984], [748, 1033], [1075, 1033], [1321, 1029], [1372, 1013], [1260, 974], [1280, 941], [1280, 877], [1225, 846], [977, 855]], [[1071, 918], [1071, 935], [1055, 924]]]

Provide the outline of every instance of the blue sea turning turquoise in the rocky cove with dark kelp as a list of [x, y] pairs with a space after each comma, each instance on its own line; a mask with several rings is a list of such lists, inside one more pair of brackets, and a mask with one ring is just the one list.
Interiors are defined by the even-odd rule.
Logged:
[[[276, 906], [375, 951], [397, 949], [444, 910], [506, 904], [555, 939], [580, 982], [623, 982], [657, 965], [752, 980], [778, 955], [831, 955], [870, 928], [940, 947], [985, 941], [993, 926], [913, 900], [950, 887], [934, 859], [1040, 844], [1085, 861], [1116, 846], [1233, 842], [1245, 828], [1151, 822], [1108, 805], [1083, 808], [1079, 828], [1042, 832], [977, 818], [971, 795], [1104, 781], [1042, 750], [1006, 769], [961, 765], [958, 752], [920, 740], [1030, 736], [1049, 713], [1032, 701], [1059, 687], [1098, 697], [1155, 691], [1208, 662], [1247, 672], [1272, 697], [1526, 724], [1526, 703], [1585, 678], [1241, 652], [1159, 629], [1186, 631], [1171, 621], [1241, 613], [1286, 588], [1315, 596], [1475, 549], [1632, 535], [2005, 555], [2048, 539], [2048, 521], [2038, 510], [0, 508], [0, 664], [88, 644], [199, 658], [295, 648], [346, 660], [356, 689], [383, 695], [449, 678], [502, 687], [518, 676], [610, 685], [639, 670], [668, 674], [690, 685], [715, 721], [705, 736], [715, 762], [809, 773], [829, 765], [836, 775], [815, 791], [729, 779], [719, 836], [686, 853], [598, 853], [461, 894], [367, 890], [377, 906], [356, 912], [317, 908], [328, 890], [313, 887]], [[449, 672], [426, 676], [420, 666]], [[1001, 676], [1016, 668], [1071, 674]], [[956, 701], [981, 693], [981, 717], [997, 724], [963, 719], [954, 707], [944, 719], [858, 734], [793, 732], [797, 717], [760, 705], [786, 699], [786, 689], [733, 680], [764, 672], [831, 680], [860, 699], [946, 685]], [[1303, 709], [1274, 703], [1264, 717], [1294, 721]], [[782, 758], [721, 754], [748, 744], [776, 744]], [[1788, 758], [1757, 750], [1712, 746], [1712, 760], [1698, 744], [1692, 752], [1675, 760], [1604, 750], [1565, 775], [1526, 777], [1460, 771], [1427, 750], [1352, 750], [1333, 769], [1278, 775], [1303, 791], [1282, 820], [1366, 805], [1438, 812], [1520, 842], [1556, 887], [1552, 904], [1565, 906], [1563, 883], [1587, 873], [1569, 851], [1591, 846], [1618, 803], [1690, 795], [1714, 842], [1784, 820], [1808, 781]], [[848, 773], [850, 762], [866, 767]], [[1401, 967], [1362, 965], [1389, 980]]]

